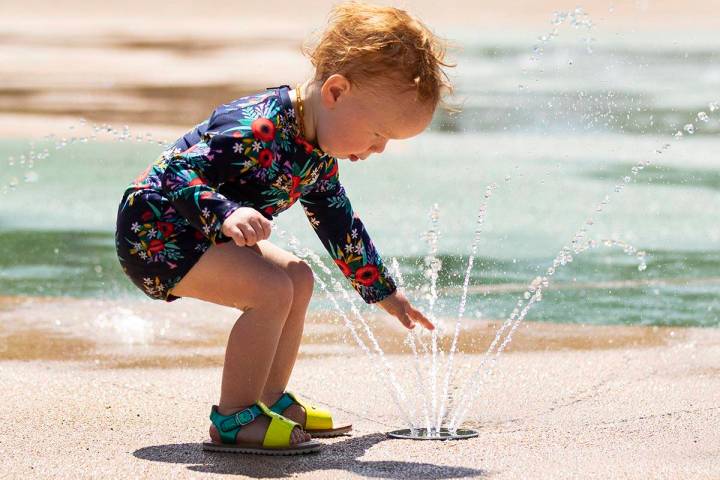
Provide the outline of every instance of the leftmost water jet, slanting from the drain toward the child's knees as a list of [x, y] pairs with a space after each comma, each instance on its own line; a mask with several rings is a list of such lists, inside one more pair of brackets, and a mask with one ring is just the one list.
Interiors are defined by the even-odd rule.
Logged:
[[[278, 231], [280, 238], [289, 237], [288, 244], [290, 245], [290, 248], [293, 250], [293, 253], [295, 253], [300, 258], [306, 258], [306, 257], [310, 258], [310, 260], [313, 262], [313, 264], [315, 264], [318, 268], [320, 268], [320, 270], [323, 273], [328, 275], [328, 277], [330, 278], [330, 282], [332, 283], [336, 292], [341, 293], [343, 295], [344, 300], [346, 300], [347, 302], [350, 303], [351, 311], [353, 312], [355, 317], [360, 321], [361, 325], [363, 326], [363, 329], [365, 330], [365, 334], [368, 336], [368, 339], [370, 340], [370, 343], [372, 344], [372, 346], [375, 350], [374, 354], [370, 350], [370, 348], [365, 344], [365, 342], [363, 342], [361, 340], [360, 336], [357, 334], [355, 325], [348, 318], [348, 316], [342, 310], [340, 305], [337, 303], [337, 299], [334, 297], [334, 295], [332, 295], [332, 293], [329, 291], [329, 289], [327, 289], [327, 288], [324, 289], [329, 294], [329, 297], [330, 297], [331, 301], [333, 302], [336, 310], [340, 313], [341, 318], [343, 319], [343, 322], [345, 323], [345, 325], [352, 332], [353, 338], [358, 343], [358, 345], [360, 345], [360, 347], [365, 351], [366, 354], [369, 354], [369, 357], [371, 359], [374, 359], [374, 358], [380, 359], [380, 362], [385, 369], [385, 375], [382, 375], [382, 377], [385, 380], [386, 385], [388, 386], [390, 395], [392, 396], [393, 401], [397, 405], [398, 410], [400, 410], [400, 412], [405, 417], [405, 421], [410, 425], [410, 428], [412, 430], [415, 430], [416, 423], [415, 423], [415, 419], [413, 418], [414, 414], [408, 413], [408, 411], [404, 407], [404, 404], [408, 403], [407, 397], [405, 396], [404, 392], [400, 388], [400, 385], [397, 381], [397, 378], [395, 376], [393, 368], [390, 365], [390, 363], [388, 362], [388, 359], [385, 356], [382, 348], [380, 347], [380, 344], [377, 342], [375, 335], [373, 335], [372, 330], [370, 329], [370, 326], [367, 324], [367, 321], [363, 318], [362, 314], [357, 309], [357, 306], [352, 301], [352, 299], [348, 295], [347, 291], [342, 287], [340, 282], [338, 282], [337, 280], [335, 280], [332, 277], [332, 271], [323, 263], [322, 259], [320, 259], [320, 257], [315, 252], [313, 252], [312, 250], [310, 250], [308, 248], [301, 250], [298, 247], [299, 242], [298, 242], [297, 238], [295, 238], [295, 236], [287, 235], [286, 232], [282, 231], [278, 227], [275, 227], [275, 230]], [[316, 278], [320, 278], [320, 277], [318, 275], [316, 275]], [[325, 285], [325, 287], [327, 287], [327, 284], [322, 279], [320, 279], [320, 281], [318, 281], [318, 285], [320, 285], [321, 288], [323, 285]]]

